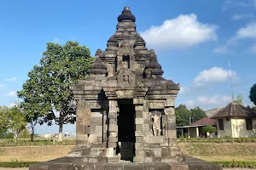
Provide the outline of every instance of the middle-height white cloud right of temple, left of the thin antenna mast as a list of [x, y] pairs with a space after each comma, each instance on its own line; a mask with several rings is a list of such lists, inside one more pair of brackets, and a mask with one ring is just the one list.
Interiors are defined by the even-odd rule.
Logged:
[[[231, 72], [232, 76], [237, 76], [236, 71]], [[201, 71], [193, 80], [193, 83], [198, 86], [204, 85], [206, 82], [224, 82], [230, 77], [230, 71], [220, 67], [212, 67], [209, 70]]]

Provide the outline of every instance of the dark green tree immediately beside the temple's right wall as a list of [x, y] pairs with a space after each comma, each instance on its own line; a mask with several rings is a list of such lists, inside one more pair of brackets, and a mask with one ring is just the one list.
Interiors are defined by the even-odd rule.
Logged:
[[191, 112], [187, 109], [186, 105], [179, 105], [175, 108], [176, 125], [177, 127], [183, 127], [189, 125], [189, 119]]

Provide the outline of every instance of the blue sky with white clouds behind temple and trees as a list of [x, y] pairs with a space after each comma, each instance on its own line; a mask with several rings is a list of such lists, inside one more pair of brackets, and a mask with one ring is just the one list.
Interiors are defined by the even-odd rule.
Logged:
[[[204, 109], [230, 102], [229, 61], [235, 95], [252, 105], [255, 83], [256, 0], [44, 0], [0, 1], [0, 105], [17, 101], [15, 92], [38, 64], [46, 42], [78, 41], [106, 48], [125, 6], [137, 31], [154, 48], [164, 77], [181, 84], [176, 105]], [[74, 126], [64, 131], [74, 132]], [[37, 133], [57, 132], [37, 127]]]

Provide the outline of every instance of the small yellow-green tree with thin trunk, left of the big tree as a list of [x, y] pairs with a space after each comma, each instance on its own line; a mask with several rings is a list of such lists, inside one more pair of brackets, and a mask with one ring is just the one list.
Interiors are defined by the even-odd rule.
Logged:
[[20, 106], [15, 105], [9, 109], [9, 128], [15, 134], [15, 141], [20, 132], [26, 127], [26, 118]]

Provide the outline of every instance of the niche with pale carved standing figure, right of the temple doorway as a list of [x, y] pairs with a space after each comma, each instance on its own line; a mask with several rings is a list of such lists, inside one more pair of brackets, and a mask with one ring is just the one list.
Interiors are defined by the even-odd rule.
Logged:
[[163, 136], [164, 126], [162, 115], [164, 114], [163, 110], [149, 110], [149, 126], [150, 126], [150, 135], [151, 136]]

